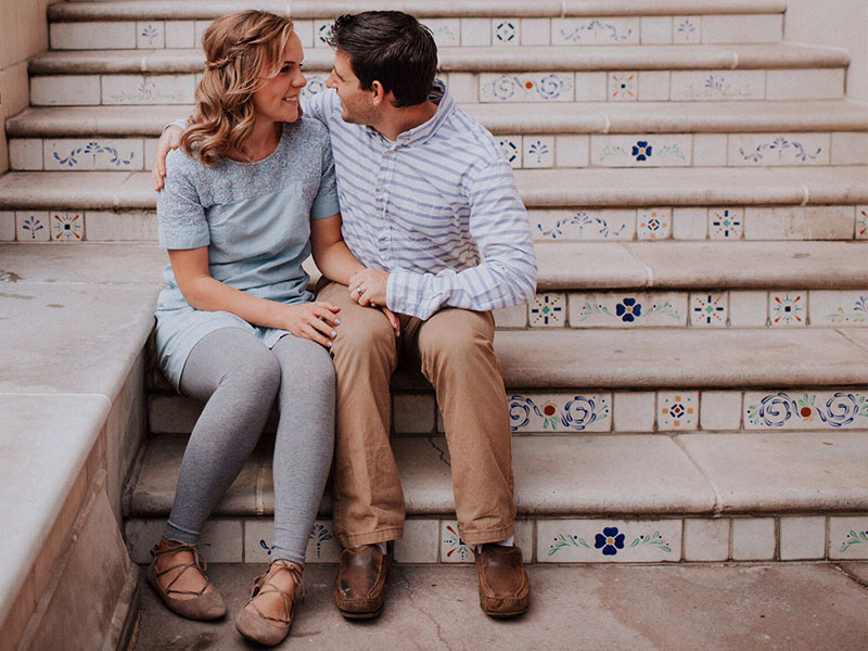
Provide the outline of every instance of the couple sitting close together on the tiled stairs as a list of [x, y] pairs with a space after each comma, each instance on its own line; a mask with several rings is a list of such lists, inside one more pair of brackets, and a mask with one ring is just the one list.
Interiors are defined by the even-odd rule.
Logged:
[[[334, 600], [349, 618], [383, 609], [405, 518], [390, 445], [399, 362], [436, 391], [482, 609], [513, 616], [529, 602], [490, 311], [535, 292], [512, 170], [435, 79], [436, 46], [416, 18], [344, 15], [330, 44], [328, 90], [303, 103], [292, 22], [218, 18], [203, 36], [193, 115], [166, 129], [154, 162], [170, 261], [157, 356], [174, 386], [206, 405], [148, 576], [178, 614], [225, 614], [196, 545], [277, 400], [272, 560], [235, 617], [265, 644], [289, 633], [332, 455], [344, 548]], [[311, 253], [317, 301], [302, 268]]]

